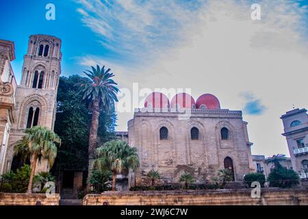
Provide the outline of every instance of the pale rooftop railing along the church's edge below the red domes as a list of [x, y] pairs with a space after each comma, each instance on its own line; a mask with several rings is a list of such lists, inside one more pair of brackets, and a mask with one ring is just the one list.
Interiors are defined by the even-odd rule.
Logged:
[[239, 110], [201, 110], [201, 109], [175, 109], [175, 108], [137, 108], [135, 112], [148, 112], [148, 113], [182, 113], [182, 114], [235, 114], [242, 115]]

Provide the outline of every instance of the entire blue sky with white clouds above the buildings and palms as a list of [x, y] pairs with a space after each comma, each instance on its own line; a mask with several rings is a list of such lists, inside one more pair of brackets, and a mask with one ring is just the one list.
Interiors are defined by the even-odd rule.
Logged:
[[[55, 21], [45, 5], [55, 5]], [[251, 21], [251, 3], [261, 21]], [[298, 3], [298, 4], [294, 4]], [[15, 42], [19, 82], [31, 34], [62, 39], [62, 75], [112, 68], [120, 88], [191, 89], [243, 110], [253, 153], [288, 155], [281, 114], [308, 107], [308, 1], [1, 1], [0, 38]], [[292, 77], [291, 77], [292, 76]], [[138, 101], [140, 106], [146, 94]], [[172, 96], [169, 96], [170, 98]], [[133, 113], [118, 114], [118, 131]]]

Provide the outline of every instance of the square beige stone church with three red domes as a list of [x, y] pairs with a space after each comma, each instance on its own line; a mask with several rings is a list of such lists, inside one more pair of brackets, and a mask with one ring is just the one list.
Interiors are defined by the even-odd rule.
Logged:
[[181, 93], [169, 101], [154, 92], [128, 122], [129, 145], [138, 149], [140, 160], [135, 183], [129, 183], [146, 184], [150, 170], [162, 175], [162, 183], [177, 183], [184, 172], [194, 175], [196, 183], [205, 183], [224, 168], [242, 181], [254, 170], [246, 125], [241, 111], [220, 109], [211, 94], [194, 101]]

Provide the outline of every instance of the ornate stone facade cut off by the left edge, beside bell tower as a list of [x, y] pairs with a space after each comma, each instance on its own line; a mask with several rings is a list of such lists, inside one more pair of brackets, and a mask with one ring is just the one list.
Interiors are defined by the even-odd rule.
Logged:
[[15, 92], [17, 83], [11, 63], [15, 60], [14, 42], [0, 40], [0, 175], [5, 172], [5, 154], [12, 123], [15, 122]]

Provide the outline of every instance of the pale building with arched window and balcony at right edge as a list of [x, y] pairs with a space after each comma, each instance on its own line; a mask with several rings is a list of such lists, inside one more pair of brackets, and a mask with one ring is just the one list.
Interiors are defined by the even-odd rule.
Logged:
[[284, 133], [293, 169], [301, 179], [308, 179], [308, 114], [306, 109], [294, 109], [283, 116]]

